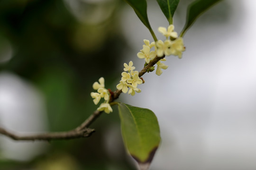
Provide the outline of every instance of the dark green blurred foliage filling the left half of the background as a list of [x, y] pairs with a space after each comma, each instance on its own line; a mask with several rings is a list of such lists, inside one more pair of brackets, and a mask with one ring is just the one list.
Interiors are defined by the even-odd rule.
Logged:
[[[125, 46], [119, 33], [120, 5], [118, 0], [105, 0], [103, 6], [99, 0], [0, 0], [1, 57], [11, 50], [10, 59], [0, 57], [0, 71], [22, 77], [43, 93], [50, 131], [75, 128], [96, 109], [91, 86], [101, 76], [106, 87], [115, 89], [119, 71], [113, 61]], [[109, 15], [96, 15], [98, 6]], [[97, 22], [81, 20], [93, 12]], [[44, 155], [28, 162], [0, 160], [0, 169], [132, 170], [124, 147], [116, 148], [122, 153], [118, 160], [106, 152], [106, 127], [113, 123], [119, 124], [117, 111], [103, 114], [91, 126], [97, 132], [90, 138], [52, 141]]]

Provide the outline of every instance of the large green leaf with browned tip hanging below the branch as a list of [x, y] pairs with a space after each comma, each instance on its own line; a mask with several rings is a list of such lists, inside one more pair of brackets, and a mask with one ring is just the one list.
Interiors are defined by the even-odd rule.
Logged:
[[118, 106], [123, 141], [128, 153], [140, 166], [149, 166], [161, 141], [154, 112], [125, 103]]

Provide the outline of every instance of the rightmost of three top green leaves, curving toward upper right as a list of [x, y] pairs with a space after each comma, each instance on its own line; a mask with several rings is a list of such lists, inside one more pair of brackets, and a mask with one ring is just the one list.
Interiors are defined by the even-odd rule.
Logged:
[[192, 2], [187, 10], [187, 18], [186, 18], [186, 24], [183, 28], [183, 31], [181, 33], [181, 36], [185, 33], [185, 31], [188, 30], [190, 26], [194, 23], [194, 21], [208, 8], [215, 5], [220, 0], [195, 0]]

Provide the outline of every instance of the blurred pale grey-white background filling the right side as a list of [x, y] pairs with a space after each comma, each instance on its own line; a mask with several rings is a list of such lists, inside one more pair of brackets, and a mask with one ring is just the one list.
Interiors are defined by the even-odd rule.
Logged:
[[[155, 7], [151, 1], [153, 29], [167, 27]], [[256, 170], [255, 7], [254, 0], [220, 2], [185, 34], [183, 59], [166, 57], [169, 68], [161, 76], [143, 76], [142, 93], [122, 95], [129, 104], [153, 110], [159, 120], [162, 144], [152, 170]], [[184, 10], [179, 6], [174, 18], [178, 33]], [[150, 34], [132, 9], [124, 17], [133, 50], [127, 52], [128, 62]], [[143, 63], [132, 60], [135, 66]]]

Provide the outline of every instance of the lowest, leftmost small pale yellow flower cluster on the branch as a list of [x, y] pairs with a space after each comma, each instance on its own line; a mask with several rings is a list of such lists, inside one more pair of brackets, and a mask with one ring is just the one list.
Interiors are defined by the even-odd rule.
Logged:
[[105, 80], [103, 77], [99, 79], [99, 83], [95, 82], [92, 85], [92, 88], [94, 90], [97, 90], [98, 93], [91, 92], [91, 97], [93, 98], [93, 102], [95, 105], [97, 105], [101, 98], [104, 98], [104, 102], [101, 103], [100, 107], [97, 109], [99, 111], [105, 111], [106, 113], [112, 112], [112, 108], [109, 104], [110, 101], [110, 92], [108, 89], [105, 88]]

